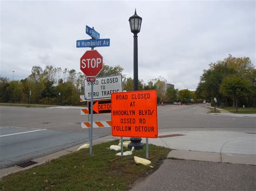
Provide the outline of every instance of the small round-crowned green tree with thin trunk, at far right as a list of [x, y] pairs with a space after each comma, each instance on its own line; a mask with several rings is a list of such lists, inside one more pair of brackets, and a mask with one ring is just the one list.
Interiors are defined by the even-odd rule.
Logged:
[[250, 83], [238, 74], [231, 75], [221, 83], [220, 92], [232, 98], [235, 102], [235, 111], [238, 111], [238, 99], [250, 93]]

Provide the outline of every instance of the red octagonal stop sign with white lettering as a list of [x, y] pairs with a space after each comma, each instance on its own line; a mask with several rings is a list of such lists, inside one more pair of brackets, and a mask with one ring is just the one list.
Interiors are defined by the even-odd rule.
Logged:
[[96, 50], [86, 51], [80, 58], [80, 69], [86, 76], [97, 76], [103, 68], [103, 57]]

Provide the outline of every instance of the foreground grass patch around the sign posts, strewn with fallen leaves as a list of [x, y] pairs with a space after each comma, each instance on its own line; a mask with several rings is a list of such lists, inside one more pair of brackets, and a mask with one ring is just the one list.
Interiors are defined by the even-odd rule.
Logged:
[[[125, 190], [139, 178], [155, 171], [169, 148], [149, 146], [149, 157], [154, 168], [136, 165], [133, 156], [145, 158], [144, 150], [134, 150], [131, 156], [118, 160], [117, 151], [107, 149], [118, 140], [93, 146], [64, 155], [42, 166], [5, 176], [0, 181], [3, 190]], [[124, 149], [125, 151], [125, 149]]]

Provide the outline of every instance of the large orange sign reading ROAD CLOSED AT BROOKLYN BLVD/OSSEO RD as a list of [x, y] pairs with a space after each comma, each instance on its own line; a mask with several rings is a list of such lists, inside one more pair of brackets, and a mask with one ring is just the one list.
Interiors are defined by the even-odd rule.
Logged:
[[112, 136], [157, 138], [157, 91], [111, 94]]

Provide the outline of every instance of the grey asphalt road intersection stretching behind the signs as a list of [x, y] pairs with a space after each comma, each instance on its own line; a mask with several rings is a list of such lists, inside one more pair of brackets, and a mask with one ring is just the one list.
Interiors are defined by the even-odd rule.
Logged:
[[[87, 121], [79, 109], [0, 107], [0, 168], [53, 153], [88, 141]], [[158, 107], [158, 131], [228, 130], [255, 132], [255, 118], [207, 114], [205, 105]], [[111, 119], [110, 114], [94, 115], [93, 121]], [[94, 128], [93, 137], [111, 135], [110, 128]]]

